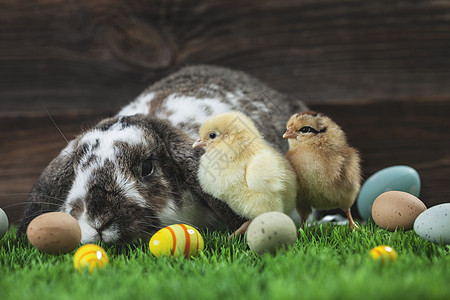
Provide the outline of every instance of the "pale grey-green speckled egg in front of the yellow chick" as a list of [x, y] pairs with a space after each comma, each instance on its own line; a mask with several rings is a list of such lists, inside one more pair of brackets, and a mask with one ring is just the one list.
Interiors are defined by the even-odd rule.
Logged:
[[247, 228], [247, 243], [257, 254], [275, 253], [297, 241], [297, 227], [281, 212], [267, 212], [253, 219]]

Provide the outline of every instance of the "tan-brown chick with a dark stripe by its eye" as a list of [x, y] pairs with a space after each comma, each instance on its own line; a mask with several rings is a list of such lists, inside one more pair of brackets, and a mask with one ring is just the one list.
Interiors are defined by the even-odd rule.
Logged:
[[286, 157], [297, 173], [297, 211], [302, 225], [311, 207], [340, 208], [350, 228], [358, 230], [350, 211], [361, 186], [358, 151], [347, 144], [342, 129], [321, 113], [294, 114], [286, 128]]

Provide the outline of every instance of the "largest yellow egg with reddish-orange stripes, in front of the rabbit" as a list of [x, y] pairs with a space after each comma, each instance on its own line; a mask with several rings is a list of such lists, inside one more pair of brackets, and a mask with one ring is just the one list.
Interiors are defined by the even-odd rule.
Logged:
[[203, 251], [202, 235], [192, 226], [175, 224], [164, 227], [150, 239], [150, 251], [157, 257], [189, 257]]

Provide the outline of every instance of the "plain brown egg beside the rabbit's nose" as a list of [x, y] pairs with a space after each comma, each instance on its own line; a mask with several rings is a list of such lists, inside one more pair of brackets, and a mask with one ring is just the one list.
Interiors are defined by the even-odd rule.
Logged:
[[27, 228], [30, 243], [49, 254], [68, 253], [80, 244], [81, 229], [69, 214], [50, 212], [34, 218]]

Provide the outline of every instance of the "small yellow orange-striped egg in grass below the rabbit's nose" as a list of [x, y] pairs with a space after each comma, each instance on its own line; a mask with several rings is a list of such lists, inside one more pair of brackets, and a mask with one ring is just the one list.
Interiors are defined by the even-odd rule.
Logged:
[[73, 257], [73, 265], [80, 272], [82, 269], [89, 267], [89, 273], [92, 273], [94, 269], [104, 267], [108, 261], [105, 250], [93, 244], [80, 247]]

